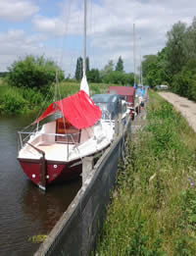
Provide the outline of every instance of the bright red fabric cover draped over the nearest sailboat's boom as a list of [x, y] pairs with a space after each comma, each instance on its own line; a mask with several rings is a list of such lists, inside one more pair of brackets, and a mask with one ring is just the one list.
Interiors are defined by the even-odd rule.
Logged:
[[33, 124], [55, 112], [62, 112], [74, 128], [91, 127], [101, 118], [99, 107], [94, 104], [83, 90], [79, 90], [72, 96], [51, 103]]

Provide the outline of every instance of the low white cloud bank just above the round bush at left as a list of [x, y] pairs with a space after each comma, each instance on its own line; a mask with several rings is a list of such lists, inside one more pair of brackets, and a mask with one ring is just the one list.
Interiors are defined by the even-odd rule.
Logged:
[[75, 60], [77, 53], [65, 50], [62, 58], [62, 49], [55, 46], [46, 46], [47, 37], [40, 34], [26, 34], [23, 29], [9, 30], [8, 32], [0, 32], [0, 71], [6, 71], [8, 67], [25, 58], [26, 55], [34, 56], [44, 55], [58, 63], [66, 76], [69, 73], [74, 74]]

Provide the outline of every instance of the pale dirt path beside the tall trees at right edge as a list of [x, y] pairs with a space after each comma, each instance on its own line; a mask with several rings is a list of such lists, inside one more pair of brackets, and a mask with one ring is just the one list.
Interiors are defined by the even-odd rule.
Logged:
[[159, 94], [172, 103], [174, 108], [181, 113], [188, 121], [189, 126], [196, 132], [196, 103], [172, 92], [159, 92]]

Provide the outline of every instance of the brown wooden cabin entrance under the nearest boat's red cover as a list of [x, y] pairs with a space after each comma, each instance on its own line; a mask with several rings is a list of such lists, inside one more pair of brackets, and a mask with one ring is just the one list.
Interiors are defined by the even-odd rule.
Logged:
[[56, 120], [56, 133], [57, 142], [73, 144], [79, 143], [81, 130], [74, 128], [68, 120], [60, 118]]

